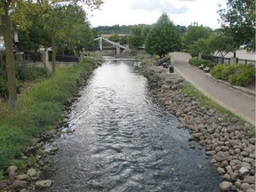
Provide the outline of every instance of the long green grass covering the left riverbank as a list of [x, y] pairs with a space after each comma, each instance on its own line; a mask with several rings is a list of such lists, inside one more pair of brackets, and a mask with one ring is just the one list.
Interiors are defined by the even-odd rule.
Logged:
[[53, 129], [61, 120], [65, 100], [72, 98], [78, 79], [92, 71], [95, 64], [95, 60], [84, 59], [74, 67], [59, 68], [54, 76], [21, 95], [16, 111], [1, 104], [0, 180], [4, 169], [22, 153], [32, 138]]

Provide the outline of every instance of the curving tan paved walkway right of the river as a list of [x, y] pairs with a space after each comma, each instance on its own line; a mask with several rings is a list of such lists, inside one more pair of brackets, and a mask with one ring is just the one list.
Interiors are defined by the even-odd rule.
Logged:
[[241, 116], [255, 125], [255, 96], [249, 96], [212, 81], [205, 76], [204, 71], [188, 64], [190, 58], [188, 53], [173, 52], [171, 55], [175, 71], [190, 84], [193, 84], [199, 91], [204, 92], [222, 107], [228, 108], [237, 116]]

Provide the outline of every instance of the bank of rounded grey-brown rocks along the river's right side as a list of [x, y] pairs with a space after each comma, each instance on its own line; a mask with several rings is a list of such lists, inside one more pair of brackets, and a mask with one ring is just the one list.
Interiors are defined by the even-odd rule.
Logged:
[[213, 108], [201, 107], [197, 98], [180, 91], [186, 82], [179, 74], [153, 64], [140, 71], [155, 87], [158, 100], [180, 120], [178, 128], [189, 130], [189, 148], [196, 148], [195, 140], [200, 148], [205, 148], [224, 180], [220, 191], [255, 191], [255, 138], [246, 135], [252, 125], [242, 124], [235, 116], [220, 115]]

